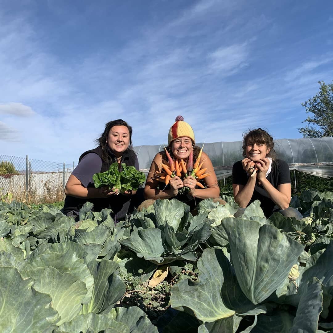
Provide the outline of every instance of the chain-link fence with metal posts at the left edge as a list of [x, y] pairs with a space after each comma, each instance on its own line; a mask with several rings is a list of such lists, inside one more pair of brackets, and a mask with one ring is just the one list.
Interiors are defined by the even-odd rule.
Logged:
[[64, 200], [64, 187], [75, 164], [0, 155], [0, 195], [26, 203]]

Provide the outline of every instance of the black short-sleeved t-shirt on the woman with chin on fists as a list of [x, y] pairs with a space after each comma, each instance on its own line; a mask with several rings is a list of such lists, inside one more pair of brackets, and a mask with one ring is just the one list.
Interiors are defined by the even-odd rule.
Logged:
[[[249, 176], [246, 171], [243, 169], [241, 161], [236, 162], [232, 166], [232, 183], [238, 185], [246, 185]], [[272, 161], [272, 170], [267, 175], [267, 180], [277, 188], [280, 184], [290, 184], [290, 173], [289, 166], [285, 161], [282, 160], [273, 160]], [[266, 217], [269, 217], [273, 210], [277, 208], [274, 201], [270, 198], [269, 194], [263, 188], [262, 185], [259, 185], [256, 182], [253, 195], [251, 197], [248, 205], [254, 200], [259, 200], [261, 202], [260, 207], [262, 208]]]

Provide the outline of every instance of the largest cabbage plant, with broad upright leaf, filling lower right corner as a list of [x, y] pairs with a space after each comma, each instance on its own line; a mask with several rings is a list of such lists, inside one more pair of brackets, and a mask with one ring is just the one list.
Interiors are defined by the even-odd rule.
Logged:
[[[172, 308], [192, 313], [201, 322], [198, 332], [317, 332], [318, 326], [330, 327], [325, 318], [333, 296], [332, 242], [299, 267], [294, 278], [289, 272], [304, 246], [286, 233], [232, 217], [224, 218], [220, 228], [230, 260], [220, 248], [205, 249], [197, 263], [198, 280], [182, 280], [171, 289]], [[252, 322], [244, 329], [240, 322], [249, 316]]]

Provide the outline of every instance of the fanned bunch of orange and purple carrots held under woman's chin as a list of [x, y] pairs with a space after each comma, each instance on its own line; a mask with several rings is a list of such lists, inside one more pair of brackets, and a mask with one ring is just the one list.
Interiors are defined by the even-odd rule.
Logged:
[[[203, 148], [203, 146], [202, 146]], [[196, 185], [200, 188], [204, 188], [204, 186], [199, 182], [199, 180], [209, 176], [209, 173], [205, 173], [207, 168], [201, 168], [204, 161], [200, 162], [202, 148], [199, 152], [199, 155], [193, 164], [193, 151], [191, 151], [187, 161], [185, 162], [183, 159], [173, 160], [165, 148], [166, 158], [168, 161], [168, 165], [162, 163], [162, 168], [164, 172], [155, 172], [155, 176], [161, 181], [165, 182], [166, 185], [169, 183], [170, 179], [174, 176], [178, 176], [180, 178], [186, 178], [187, 176], [193, 176], [197, 181]], [[182, 187], [182, 191], [180, 193], [186, 193], [189, 191], [188, 187]]]

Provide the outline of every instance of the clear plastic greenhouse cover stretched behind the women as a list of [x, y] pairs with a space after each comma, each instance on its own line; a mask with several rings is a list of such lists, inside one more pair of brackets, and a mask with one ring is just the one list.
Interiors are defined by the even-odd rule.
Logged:
[[[196, 144], [202, 147], [202, 143]], [[136, 146], [140, 170], [148, 173], [155, 155], [167, 145]], [[323, 178], [333, 177], [333, 138], [274, 140], [277, 158], [286, 161], [290, 170], [299, 170]], [[243, 159], [242, 141], [205, 143], [203, 151], [211, 159], [217, 179], [232, 174], [232, 165]]]

